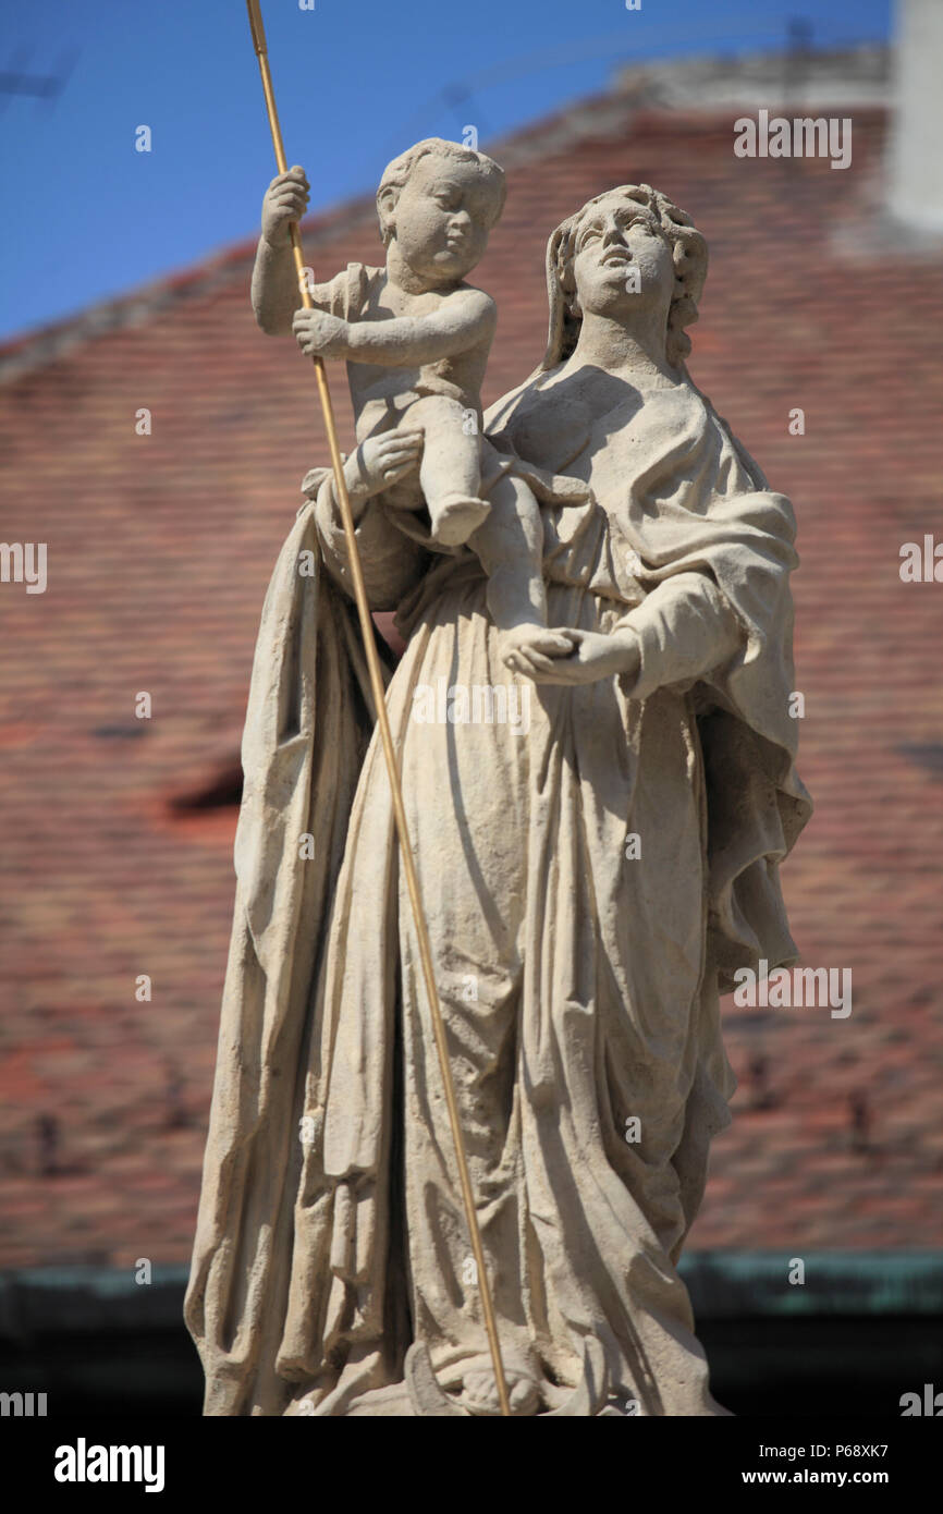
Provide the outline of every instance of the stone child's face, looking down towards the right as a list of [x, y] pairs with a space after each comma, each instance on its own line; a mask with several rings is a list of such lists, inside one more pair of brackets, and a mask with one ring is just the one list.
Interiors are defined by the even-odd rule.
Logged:
[[498, 206], [493, 182], [475, 164], [421, 157], [392, 210], [400, 254], [431, 283], [463, 279], [487, 247]]

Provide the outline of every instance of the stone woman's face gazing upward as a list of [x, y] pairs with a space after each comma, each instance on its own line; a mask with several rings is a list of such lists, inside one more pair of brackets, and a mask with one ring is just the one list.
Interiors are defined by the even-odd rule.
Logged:
[[671, 245], [634, 200], [599, 200], [586, 212], [574, 244], [574, 279], [583, 315], [630, 319], [668, 309], [675, 288]]

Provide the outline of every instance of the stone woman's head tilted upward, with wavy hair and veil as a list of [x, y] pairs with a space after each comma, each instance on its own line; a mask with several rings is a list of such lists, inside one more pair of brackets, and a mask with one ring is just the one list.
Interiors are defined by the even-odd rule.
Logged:
[[587, 312], [631, 321], [664, 310], [664, 356], [690, 351], [684, 332], [698, 319], [707, 244], [689, 215], [651, 185], [621, 185], [589, 200], [546, 244], [549, 332], [540, 369], [565, 362]]

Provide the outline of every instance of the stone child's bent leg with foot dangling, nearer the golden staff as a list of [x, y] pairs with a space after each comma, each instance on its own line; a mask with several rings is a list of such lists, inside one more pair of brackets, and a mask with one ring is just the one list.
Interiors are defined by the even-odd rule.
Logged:
[[406, 412], [406, 424], [425, 436], [419, 483], [428, 506], [433, 539], [459, 547], [487, 516], [490, 504], [480, 498], [481, 441], [466, 430], [468, 412], [445, 395], [427, 395]]

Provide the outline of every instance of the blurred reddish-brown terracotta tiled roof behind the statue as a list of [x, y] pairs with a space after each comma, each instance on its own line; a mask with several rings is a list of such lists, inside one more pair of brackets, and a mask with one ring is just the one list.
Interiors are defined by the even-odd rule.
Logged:
[[[799, 518], [817, 813], [784, 869], [793, 930], [810, 966], [852, 969], [854, 1010], [725, 1001], [742, 1084], [692, 1245], [929, 1248], [943, 587], [902, 583], [899, 548], [940, 519], [943, 260], [887, 235], [875, 250], [881, 109], [852, 112], [848, 171], [734, 157], [736, 114], [604, 97], [495, 148], [510, 194], [480, 268], [500, 306], [486, 398], [542, 353], [557, 221], [628, 180], [695, 217], [711, 274], [692, 372]], [[5, 1266], [189, 1255], [233, 898], [226, 798], [268, 572], [325, 457], [309, 363], [254, 326], [253, 248], [0, 351], [2, 534], [48, 544], [45, 593], [0, 586]], [[313, 223], [307, 250], [319, 274], [378, 257], [371, 207]], [[339, 372], [335, 397], [350, 435]]]

